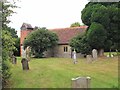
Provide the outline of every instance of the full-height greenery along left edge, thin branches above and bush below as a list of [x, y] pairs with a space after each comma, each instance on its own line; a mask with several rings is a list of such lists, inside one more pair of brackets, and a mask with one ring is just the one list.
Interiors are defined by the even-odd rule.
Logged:
[[0, 12], [0, 16], [2, 17], [0, 19], [2, 22], [2, 86], [5, 87], [5, 85], [7, 84], [7, 80], [11, 75], [8, 65], [10, 54], [15, 49], [15, 38], [13, 38], [14, 36], [12, 36], [12, 31], [10, 31], [10, 27], [8, 27], [8, 24], [10, 23], [8, 17], [11, 16], [12, 13], [14, 13], [12, 8], [15, 8], [16, 6], [11, 4], [10, 2], [7, 2], [6, 0], [6, 2], [0, 1], [0, 7], [2, 8]]

